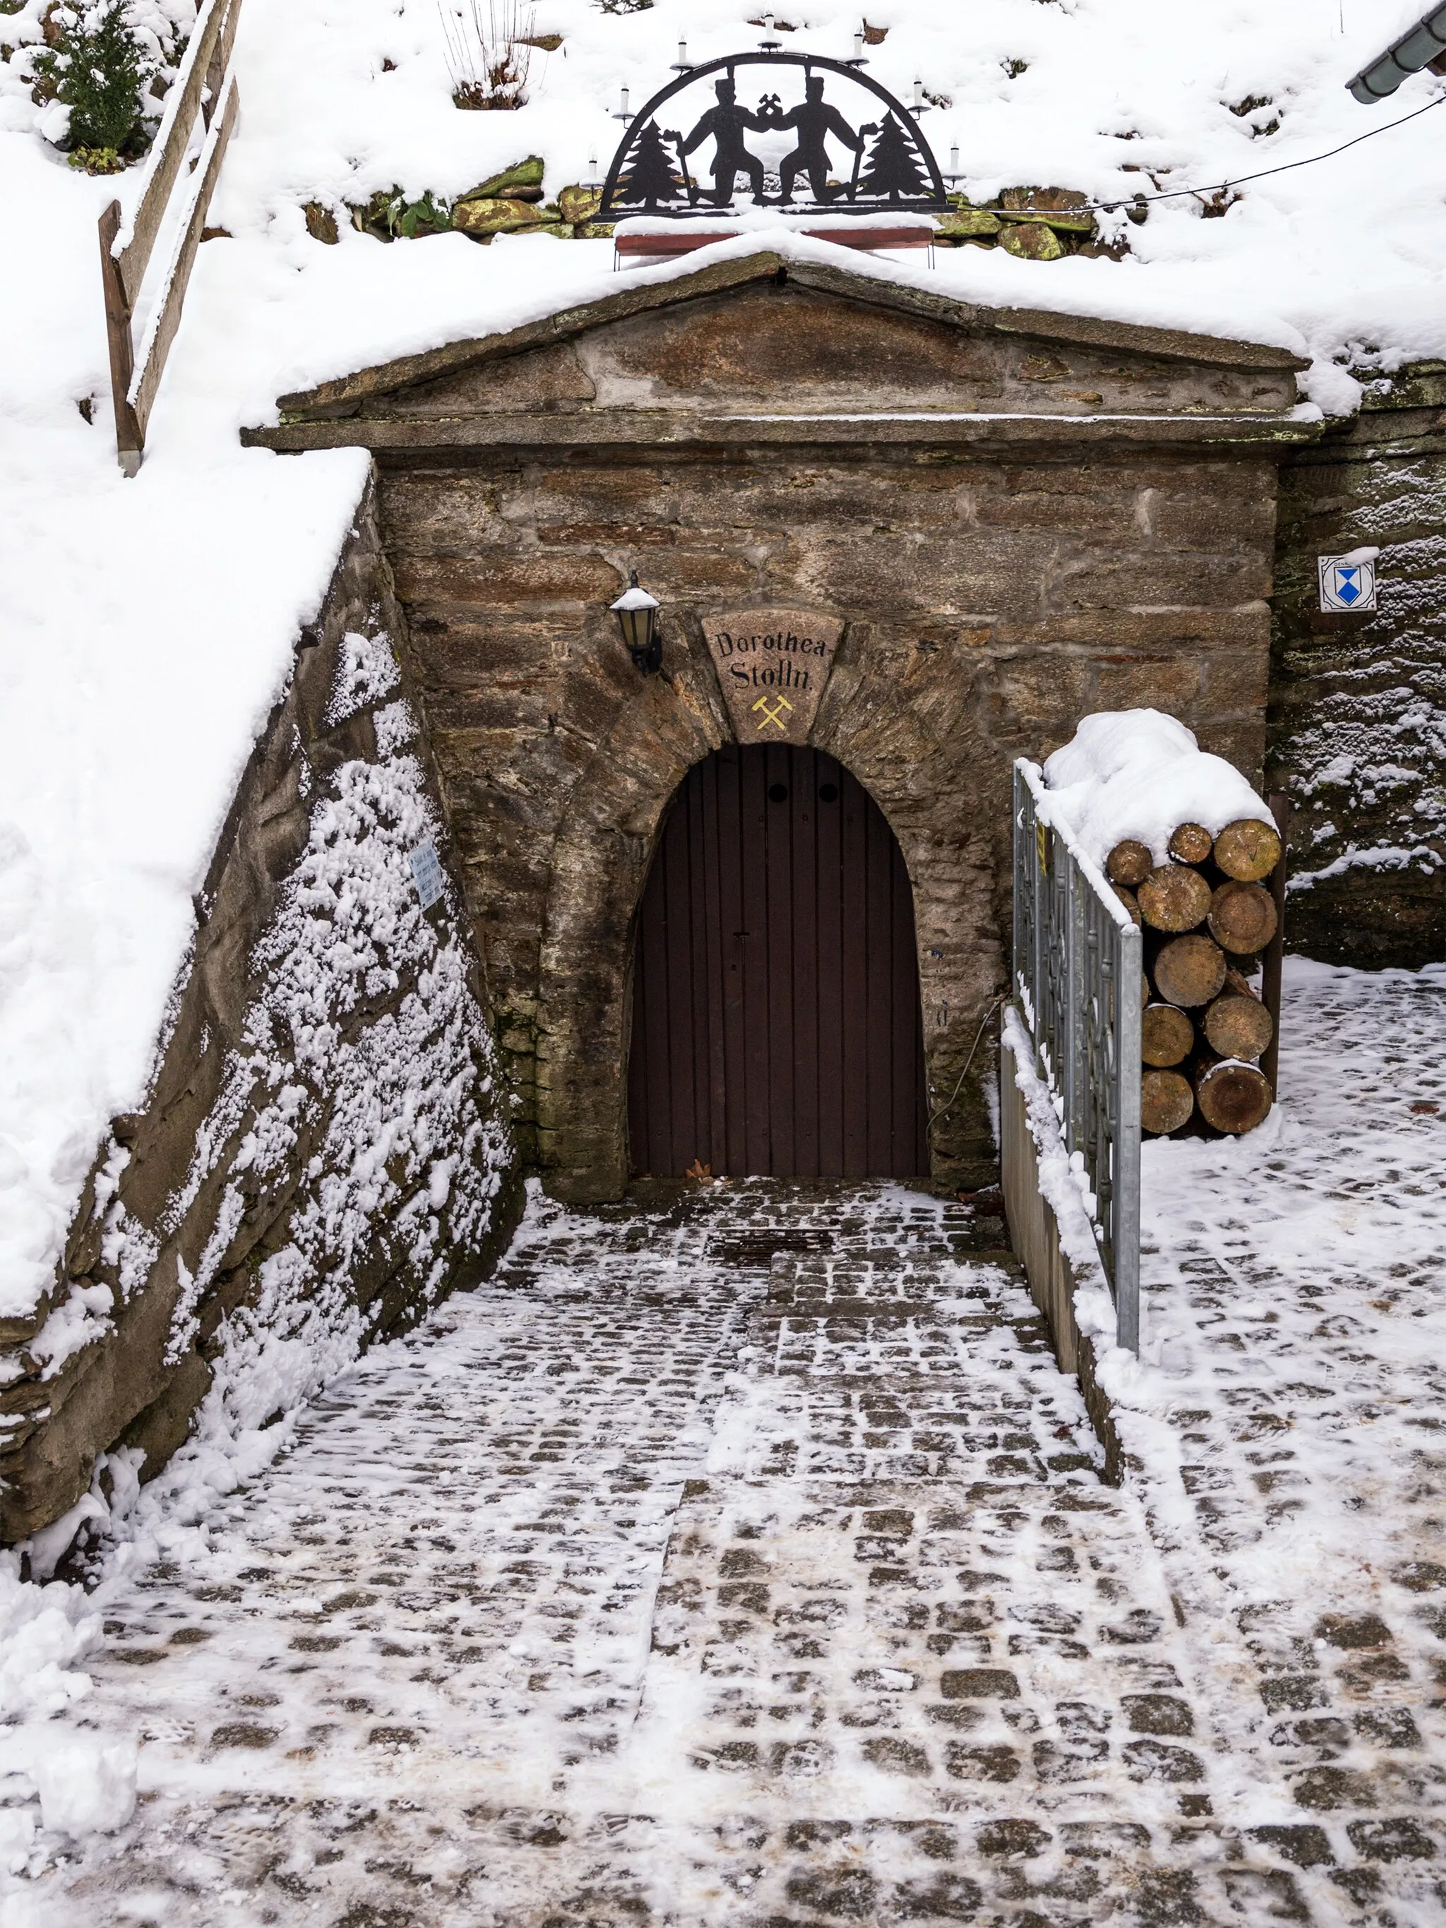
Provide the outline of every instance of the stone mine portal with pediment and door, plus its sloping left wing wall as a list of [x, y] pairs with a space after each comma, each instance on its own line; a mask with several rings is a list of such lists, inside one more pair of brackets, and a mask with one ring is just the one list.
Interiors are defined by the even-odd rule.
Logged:
[[[10, 1540], [104, 1450], [166, 1463], [233, 1313], [370, 1340], [474, 1280], [526, 1172], [991, 1184], [1014, 758], [1153, 706], [1259, 783], [1301, 364], [798, 247], [619, 274], [247, 434], [372, 484], [67, 1236], [66, 1303], [106, 1286], [116, 1326], [56, 1379], [37, 1321], [0, 1334]], [[634, 571], [659, 673], [611, 613]], [[312, 956], [335, 1043], [274, 1080]]]

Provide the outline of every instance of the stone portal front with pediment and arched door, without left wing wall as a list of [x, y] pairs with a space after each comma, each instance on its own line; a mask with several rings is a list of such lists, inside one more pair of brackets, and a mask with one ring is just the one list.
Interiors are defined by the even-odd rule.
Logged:
[[[283, 397], [253, 442], [374, 453], [380, 600], [555, 1193], [694, 1159], [985, 1180], [1010, 762], [1149, 704], [1259, 781], [1298, 366], [760, 253]], [[656, 677], [609, 615], [630, 571]], [[758, 817], [733, 924], [684, 879], [725, 773]], [[856, 850], [821, 891], [829, 812]], [[825, 966], [829, 918], [862, 962]]]

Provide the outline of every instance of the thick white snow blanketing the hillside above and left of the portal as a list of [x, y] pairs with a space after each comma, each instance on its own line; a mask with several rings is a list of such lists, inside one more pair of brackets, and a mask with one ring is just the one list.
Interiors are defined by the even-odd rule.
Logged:
[[[0, 39], [33, 13], [25, 0]], [[1413, 13], [883, 0], [870, 71], [949, 98], [925, 131], [941, 156], [958, 145], [976, 199], [1016, 183], [1109, 199], [1296, 162], [1425, 104], [1444, 89], [1429, 75], [1375, 110], [1344, 91]], [[453, 197], [530, 152], [549, 191], [584, 179], [617, 137], [619, 85], [646, 98], [679, 33], [694, 60], [752, 46], [744, 15], [723, 0], [540, 0], [534, 33], [563, 44], [536, 54], [530, 104], [465, 114], [436, 0], [247, 0], [243, 116], [212, 212], [233, 239], [201, 251], [135, 482], [114, 467], [94, 220], [112, 193], [135, 197], [139, 170], [73, 174], [0, 66], [0, 1313], [44, 1284], [98, 1130], [141, 1097], [191, 893], [362, 482], [357, 455], [243, 451], [237, 428], [289, 388], [613, 285], [605, 241], [386, 247], [343, 226], [322, 247], [303, 204]], [[810, 0], [798, 19], [785, 44], [852, 50], [854, 12]], [[1128, 229], [1126, 262], [962, 249], [933, 274], [891, 272], [1298, 347], [1309, 395], [1346, 411], [1348, 366], [1446, 353], [1444, 189], [1446, 112], [1247, 185], [1224, 218], [1159, 202]]]

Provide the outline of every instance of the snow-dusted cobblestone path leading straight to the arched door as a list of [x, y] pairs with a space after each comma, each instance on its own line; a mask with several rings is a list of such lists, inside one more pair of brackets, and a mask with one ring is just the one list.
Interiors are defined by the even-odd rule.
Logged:
[[1001, 1245], [897, 1188], [534, 1207], [112, 1606], [143, 1803], [21, 1918], [1442, 1918], [1425, 1857], [1242, 1826], [1240, 1623], [1099, 1481]]

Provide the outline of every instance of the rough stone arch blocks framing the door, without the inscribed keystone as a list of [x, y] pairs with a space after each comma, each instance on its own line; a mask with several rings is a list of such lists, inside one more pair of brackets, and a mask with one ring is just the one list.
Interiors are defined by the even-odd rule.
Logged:
[[[617, 669], [617, 644], [603, 652], [617, 710], [573, 781], [548, 854], [532, 1033], [536, 1159], [567, 1199], [617, 1197], [627, 1186], [634, 924], [675, 790], [735, 740], [704, 629], [700, 619], [667, 625], [657, 679]], [[898, 839], [914, 891], [927, 1084], [945, 1095], [1003, 970], [995, 852], [1008, 825], [991, 810], [983, 773], [970, 771], [974, 735], [956, 727], [974, 702], [976, 669], [952, 652], [925, 652], [900, 677], [893, 638], [848, 625], [812, 733]], [[931, 1134], [943, 1176], [981, 1176], [993, 1157], [979, 1062], [987, 1068], [989, 1053]]]

